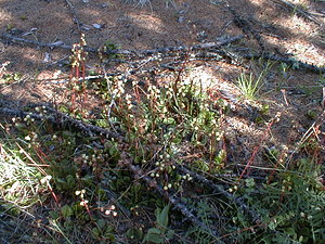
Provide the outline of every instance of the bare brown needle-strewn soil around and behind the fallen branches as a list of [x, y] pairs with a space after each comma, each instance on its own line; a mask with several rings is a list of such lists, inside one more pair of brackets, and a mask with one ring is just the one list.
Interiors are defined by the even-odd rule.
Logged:
[[[276, 0], [231, 1], [230, 7], [236, 11], [237, 16], [222, 1], [143, 2], [144, 5], [136, 1], [118, 0], [1, 0], [0, 62], [9, 62], [6, 74], [17, 76], [17, 80], [10, 81], [10, 86], [5, 86], [5, 80], [2, 81], [2, 95], [20, 105], [22, 102], [53, 102], [57, 94], [53, 91], [53, 82], [47, 82], [47, 79], [67, 77], [70, 72], [70, 50], [15, 43], [15, 40], [5, 38], [3, 34], [43, 43], [61, 41], [72, 47], [79, 42], [80, 34], [83, 33], [87, 44], [94, 49], [110, 43], [130, 51], [193, 46], [244, 34], [245, 38], [237, 41], [235, 47], [255, 51], [263, 47], [264, 52], [294, 57], [320, 67], [325, 65], [325, 5], [322, 1], [295, 1], [292, 3], [299, 8], [297, 10]], [[300, 14], [300, 10], [303, 14]], [[238, 23], [237, 18], [242, 18], [243, 23]], [[245, 66], [236, 65], [231, 56], [226, 59], [226, 62], [221, 63], [192, 62], [190, 65], [195, 68], [190, 76], [205, 75], [206, 79], [213, 79], [216, 85], [233, 85], [246, 69]], [[99, 55], [90, 53], [87, 56], [87, 70], [96, 70], [98, 64]], [[123, 70], [126, 67], [110, 63], [106, 68]], [[317, 108], [315, 104], [322, 99], [320, 88], [324, 77], [317, 72], [276, 73], [273, 70], [268, 75], [263, 86], [268, 94], [263, 94], [263, 100], [283, 104], [282, 89], [285, 89], [286, 99], [292, 108], [290, 113], [301, 120], [294, 119], [298, 123], [296, 126], [308, 127], [301, 115]], [[318, 107], [317, 113], [321, 110]]]

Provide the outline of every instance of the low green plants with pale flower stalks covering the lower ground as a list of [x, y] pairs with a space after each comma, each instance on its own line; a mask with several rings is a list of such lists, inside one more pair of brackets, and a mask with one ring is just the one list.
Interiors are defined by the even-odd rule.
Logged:
[[[230, 159], [232, 107], [218, 90], [183, 79], [185, 68], [170, 82], [106, 74], [79, 81], [83, 54], [81, 43], [69, 102], [56, 104], [64, 113], [29, 106], [1, 121], [2, 242], [324, 242], [316, 127], [294, 150], [268, 147], [248, 167], [253, 150], [248, 163]], [[256, 99], [264, 75], [240, 75], [242, 93]], [[280, 119], [270, 117], [261, 125]]]

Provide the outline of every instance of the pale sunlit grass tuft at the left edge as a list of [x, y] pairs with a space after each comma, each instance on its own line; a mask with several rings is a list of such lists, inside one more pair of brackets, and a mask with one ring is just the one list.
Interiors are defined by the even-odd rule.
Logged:
[[[34, 207], [47, 195], [47, 177], [28, 158], [21, 144], [14, 140], [3, 124], [0, 124], [0, 242], [34, 242], [31, 222]], [[34, 241], [32, 241], [34, 240]]]

